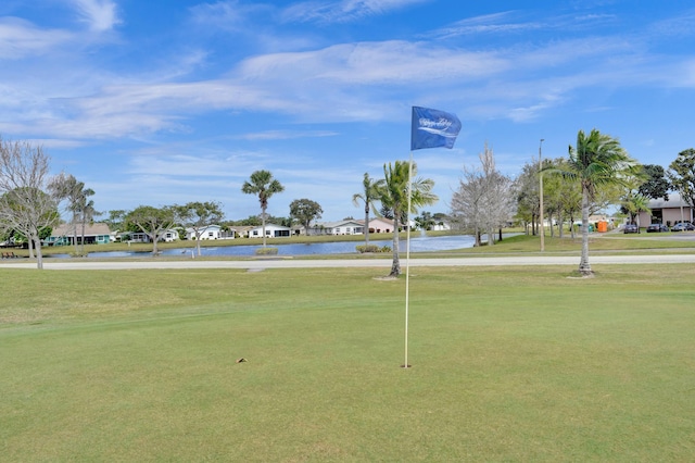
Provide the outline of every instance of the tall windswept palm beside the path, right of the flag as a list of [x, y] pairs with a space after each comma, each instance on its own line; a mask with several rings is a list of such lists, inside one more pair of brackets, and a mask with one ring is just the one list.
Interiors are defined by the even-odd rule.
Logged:
[[582, 256], [579, 272], [593, 275], [589, 264], [589, 209], [597, 187], [628, 185], [636, 175], [637, 163], [620, 142], [595, 128], [589, 136], [577, 134], [577, 147], [569, 147], [566, 175], [578, 178], [582, 187]]

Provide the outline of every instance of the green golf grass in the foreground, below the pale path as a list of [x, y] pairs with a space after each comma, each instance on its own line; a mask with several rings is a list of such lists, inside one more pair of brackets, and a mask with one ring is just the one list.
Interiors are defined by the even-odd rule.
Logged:
[[[690, 265], [0, 270], [3, 461], [694, 461]], [[236, 363], [238, 358], [248, 362]]]

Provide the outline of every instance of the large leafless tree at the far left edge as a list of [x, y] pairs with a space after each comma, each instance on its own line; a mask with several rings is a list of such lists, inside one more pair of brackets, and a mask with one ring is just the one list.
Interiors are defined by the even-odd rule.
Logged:
[[40, 232], [58, 224], [53, 197], [46, 192], [49, 158], [40, 146], [0, 138], [0, 224], [22, 233], [43, 268]]

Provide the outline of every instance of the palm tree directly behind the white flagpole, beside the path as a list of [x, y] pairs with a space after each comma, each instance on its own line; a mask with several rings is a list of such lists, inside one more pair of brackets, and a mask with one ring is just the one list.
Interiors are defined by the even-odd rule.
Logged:
[[[417, 212], [417, 208], [433, 204], [438, 198], [432, 193], [434, 182], [426, 178], [414, 178], [417, 173], [415, 163], [396, 161], [383, 164], [383, 184], [379, 188], [379, 200], [383, 208], [393, 214], [393, 263], [389, 276], [401, 275], [401, 260], [399, 258], [399, 228], [401, 217], [407, 217], [409, 212]], [[410, 211], [408, 211], [408, 182], [410, 185]], [[406, 224], [407, 225], [407, 224]]]

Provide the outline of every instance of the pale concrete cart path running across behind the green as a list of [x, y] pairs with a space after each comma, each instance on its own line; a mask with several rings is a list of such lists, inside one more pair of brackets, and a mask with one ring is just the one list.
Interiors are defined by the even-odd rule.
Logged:
[[[571, 265], [578, 266], [580, 258], [571, 256], [471, 256], [451, 259], [410, 259], [409, 266], [506, 266], [506, 265]], [[695, 263], [695, 254], [649, 254], [649, 255], [593, 255], [594, 264], [677, 264]], [[327, 267], [391, 267], [391, 259], [250, 259], [233, 261], [102, 261], [71, 262], [45, 260], [45, 270], [138, 270], [138, 268], [327, 268]], [[401, 256], [401, 267], [405, 270], [405, 258]], [[36, 262], [2, 262], [0, 268], [36, 268]]]

